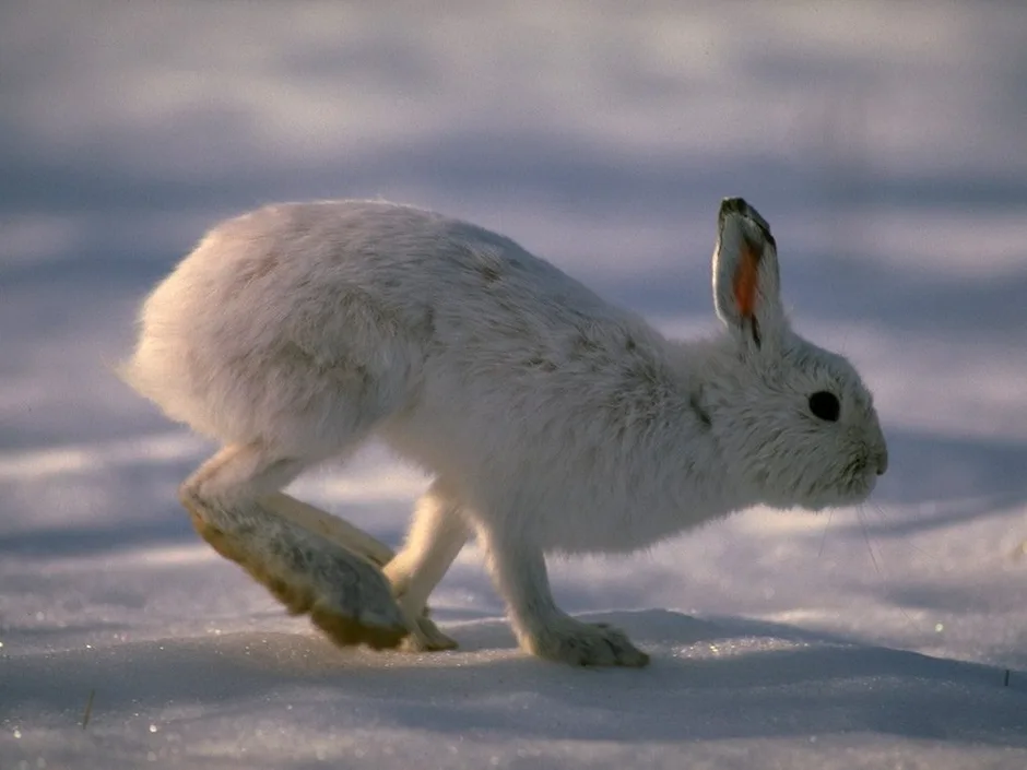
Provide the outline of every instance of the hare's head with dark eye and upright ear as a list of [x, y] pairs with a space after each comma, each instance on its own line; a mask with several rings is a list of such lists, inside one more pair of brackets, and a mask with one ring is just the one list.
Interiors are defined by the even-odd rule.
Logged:
[[770, 227], [741, 198], [720, 206], [713, 299], [728, 337], [709, 401], [734, 475], [775, 507], [865, 499], [888, 462], [873, 399], [848, 360], [792, 331]]

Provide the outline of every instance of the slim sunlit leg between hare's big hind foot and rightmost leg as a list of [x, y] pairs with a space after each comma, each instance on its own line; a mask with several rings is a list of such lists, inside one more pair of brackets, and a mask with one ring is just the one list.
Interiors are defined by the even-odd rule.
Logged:
[[455, 490], [437, 478], [417, 500], [403, 548], [385, 567], [411, 631], [403, 642], [411, 652], [457, 647], [456, 640], [442, 633], [427, 616], [426, 605], [428, 595], [470, 535], [460, 507]]

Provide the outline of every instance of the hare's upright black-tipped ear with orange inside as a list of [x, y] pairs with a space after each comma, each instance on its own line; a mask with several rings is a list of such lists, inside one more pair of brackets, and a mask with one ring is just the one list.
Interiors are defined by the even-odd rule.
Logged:
[[717, 315], [746, 348], [776, 346], [787, 324], [770, 226], [741, 198], [725, 198], [713, 252]]

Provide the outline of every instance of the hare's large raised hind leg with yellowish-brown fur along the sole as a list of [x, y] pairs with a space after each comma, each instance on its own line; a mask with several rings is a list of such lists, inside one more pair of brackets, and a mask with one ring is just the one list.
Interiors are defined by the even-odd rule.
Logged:
[[182, 484], [180, 499], [200, 535], [291, 613], [308, 613], [339, 644], [397, 647], [406, 625], [381, 572], [265, 501], [306, 464], [259, 446], [229, 446]]

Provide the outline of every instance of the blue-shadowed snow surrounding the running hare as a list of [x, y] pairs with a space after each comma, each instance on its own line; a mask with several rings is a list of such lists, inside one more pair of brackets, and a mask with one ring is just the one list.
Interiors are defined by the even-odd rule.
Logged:
[[[1027, 9], [692, 7], [3, 4], [0, 770], [1027, 767]], [[459, 651], [331, 648], [198, 541], [210, 447], [109, 366], [214, 220], [376, 194], [682, 334], [744, 194], [875, 390], [873, 502], [554, 565], [641, 672], [521, 654], [473, 547]], [[371, 448], [295, 491], [397, 544], [424, 485]]]

